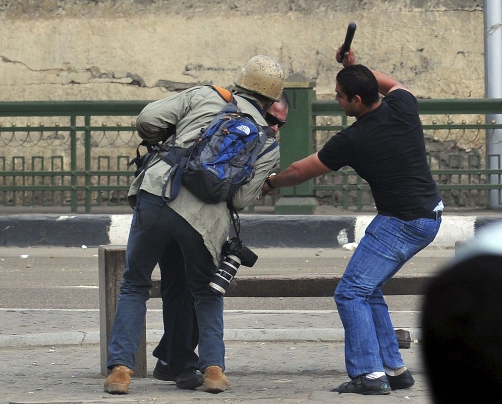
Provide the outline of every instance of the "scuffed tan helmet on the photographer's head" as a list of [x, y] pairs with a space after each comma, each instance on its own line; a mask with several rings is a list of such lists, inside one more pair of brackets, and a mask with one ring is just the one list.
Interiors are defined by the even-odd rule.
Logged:
[[280, 64], [268, 56], [253, 56], [237, 72], [234, 84], [278, 101], [283, 93], [284, 71]]

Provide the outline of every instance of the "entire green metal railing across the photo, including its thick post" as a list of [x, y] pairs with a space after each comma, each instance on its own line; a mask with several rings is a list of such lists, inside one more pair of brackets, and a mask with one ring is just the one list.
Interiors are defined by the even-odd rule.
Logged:
[[[289, 83], [286, 89], [291, 109], [281, 129], [281, 169], [351, 123], [337, 102], [317, 100], [313, 87]], [[134, 120], [147, 103], [0, 103], [0, 206], [63, 206], [90, 213], [97, 206], [127, 205], [134, 178], [127, 162], [139, 143]], [[501, 113], [502, 100], [419, 99], [419, 109], [429, 164], [445, 202], [485, 207], [488, 191], [502, 189], [502, 168], [488, 169], [484, 157], [485, 133], [502, 124], [485, 123], [485, 116]], [[312, 206], [300, 203], [298, 209], [298, 200], [312, 197], [357, 211], [373, 206], [369, 186], [344, 168], [281, 189], [275, 211], [309, 213]]]

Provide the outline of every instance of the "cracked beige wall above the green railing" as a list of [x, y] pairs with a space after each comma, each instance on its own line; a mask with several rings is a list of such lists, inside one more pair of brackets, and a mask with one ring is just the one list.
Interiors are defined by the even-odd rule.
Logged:
[[227, 86], [256, 54], [334, 96], [349, 22], [359, 63], [419, 97], [484, 96], [481, 0], [0, 0], [0, 100], [156, 99]]

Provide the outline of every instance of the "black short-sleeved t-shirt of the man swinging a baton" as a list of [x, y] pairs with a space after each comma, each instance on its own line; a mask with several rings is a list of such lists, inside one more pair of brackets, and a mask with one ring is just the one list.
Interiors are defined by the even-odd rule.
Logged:
[[416, 98], [398, 89], [319, 150], [337, 171], [352, 167], [371, 187], [378, 213], [413, 220], [441, 200], [430, 173]]

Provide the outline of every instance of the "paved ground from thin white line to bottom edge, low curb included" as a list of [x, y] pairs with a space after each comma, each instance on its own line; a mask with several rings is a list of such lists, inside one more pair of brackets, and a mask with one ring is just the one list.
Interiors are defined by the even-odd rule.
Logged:
[[[396, 328], [408, 329], [412, 335], [411, 348], [401, 350], [416, 380], [409, 390], [373, 397], [329, 391], [348, 380], [343, 329], [336, 311], [230, 310], [225, 313], [225, 339], [226, 373], [232, 389], [211, 395], [180, 390], [150, 376], [133, 379], [130, 394], [111, 396], [102, 391], [97, 310], [3, 309], [0, 323], [5, 329], [22, 331], [24, 337], [14, 338], [14, 347], [6, 346], [8, 336], [0, 337], [0, 403], [323, 404], [343, 400], [429, 404], [420, 350], [420, 313], [395, 311], [391, 317]], [[159, 310], [148, 311], [147, 325], [151, 375], [155, 365], [151, 352], [162, 327]]]

